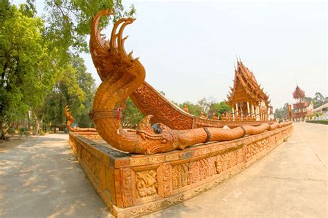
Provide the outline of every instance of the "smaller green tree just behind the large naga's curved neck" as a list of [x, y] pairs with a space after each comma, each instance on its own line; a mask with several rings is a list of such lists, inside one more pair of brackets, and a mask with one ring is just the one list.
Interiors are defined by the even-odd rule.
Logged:
[[62, 69], [53, 87], [46, 97], [44, 112], [46, 123], [62, 125], [66, 122], [65, 106], [69, 105], [79, 126], [91, 127], [89, 112], [92, 109], [93, 95], [95, 93], [95, 80], [91, 73], [86, 72], [84, 61], [74, 57], [71, 63]]

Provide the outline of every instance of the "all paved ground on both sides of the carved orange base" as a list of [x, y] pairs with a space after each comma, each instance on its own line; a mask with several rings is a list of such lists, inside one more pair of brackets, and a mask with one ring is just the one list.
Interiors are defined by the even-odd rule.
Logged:
[[[148, 217], [327, 217], [328, 126], [293, 137], [241, 174]], [[107, 217], [67, 143], [53, 134], [0, 152], [0, 217]]]

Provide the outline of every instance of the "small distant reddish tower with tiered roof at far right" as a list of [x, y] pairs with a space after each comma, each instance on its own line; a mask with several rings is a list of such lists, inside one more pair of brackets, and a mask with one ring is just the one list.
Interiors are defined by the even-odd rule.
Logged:
[[293, 98], [295, 99], [295, 103], [293, 103], [293, 121], [304, 121], [308, 114], [307, 107], [309, 106], [309, 103], [304, 101], [305, 92], [296, 86]]

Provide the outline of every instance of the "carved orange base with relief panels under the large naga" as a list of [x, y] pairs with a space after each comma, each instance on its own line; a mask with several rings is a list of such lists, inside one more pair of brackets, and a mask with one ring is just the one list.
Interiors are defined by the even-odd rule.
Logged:
[[96, 132], [70, 132], [75, 155], [117, 217], [134, 217], [190, 199], [240, 172], [288, 138], [293, 126], [234, 141], [156, 155], [129, 155]]

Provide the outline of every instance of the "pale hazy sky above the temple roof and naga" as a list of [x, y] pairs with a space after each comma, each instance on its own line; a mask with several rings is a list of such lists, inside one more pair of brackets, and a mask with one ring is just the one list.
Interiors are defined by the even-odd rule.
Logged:
[[[325, 1], [123, 3], [134, 3], [137, 12], [125, 29], [126, 50], [134, 50], [146, 81], [168, 99], [223, 101], [233, 86], [236, 57], [253, 70], [274, 108], [293, 101], [296, 82], [308, 97], [327, 96]], [[90, 55], [82, 57], [99, 84]]]

